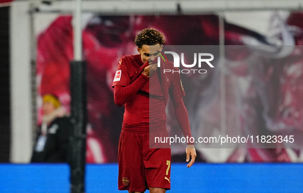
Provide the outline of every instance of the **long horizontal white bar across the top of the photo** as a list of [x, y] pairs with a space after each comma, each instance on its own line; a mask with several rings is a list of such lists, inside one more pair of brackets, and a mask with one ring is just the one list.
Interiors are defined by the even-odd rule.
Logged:
[[[73, 1], [40, 4], [41, 12], [72, 13]], [[177, 4], [183, 14], [200, 14], [237, 10], [301, 10], [303, 0], [189, 0], [189, 1], [83, 1], [83, 12], [106, 15], [177, 14]]]

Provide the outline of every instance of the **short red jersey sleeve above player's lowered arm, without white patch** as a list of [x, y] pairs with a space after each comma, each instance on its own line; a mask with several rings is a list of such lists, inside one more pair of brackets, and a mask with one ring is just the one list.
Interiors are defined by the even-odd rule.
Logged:
[[184, 88], [179, 73], [172, 73], [172, 83], [169, 88], [169, 95], [171, 98], [174, 99], [185, 96]]

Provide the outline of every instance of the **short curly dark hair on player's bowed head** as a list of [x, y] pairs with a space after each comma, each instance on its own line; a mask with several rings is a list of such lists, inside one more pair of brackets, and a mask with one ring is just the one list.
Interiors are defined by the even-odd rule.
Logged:
[[153, 28], [146, 28], [141, 31], [135, 38], [135, 45], [138, 48], [142, 48], [143, 45], [153, 46], [156, 44], [163, 45], [165, 42], [163, 33]]

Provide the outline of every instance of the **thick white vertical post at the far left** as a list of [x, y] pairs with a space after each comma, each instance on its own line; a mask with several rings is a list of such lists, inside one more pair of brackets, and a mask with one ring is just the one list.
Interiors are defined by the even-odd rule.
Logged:
[[27, 163], [32, 154], [30, 5], [10, 10], [11, 155], [13, 163]]

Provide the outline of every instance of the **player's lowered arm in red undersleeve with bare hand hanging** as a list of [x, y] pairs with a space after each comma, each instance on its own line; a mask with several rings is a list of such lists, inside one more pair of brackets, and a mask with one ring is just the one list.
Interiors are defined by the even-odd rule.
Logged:
[[[171, 98], [173, 107], [174, 107], [174, 113], [175, 117], [177, 119], [177, 122], [179, 126], [181, 127], [183, 134], [185, 137], [191, 138], [191, 131], [190, 131], [190, 124], [189, 124], [189, 119], [188, 119], [188, 112], [185, 108], [184, 102], [182, 97], [178, 98]], [[197, 153], [195, 150], [195, 147], [193, 143], [188, 143], [186, 147], [186, 161], [188, 162], [191, 157], [191, 161], [187, 164], [187, 167], [190, 167], [193, 165], [195, 162]]]

